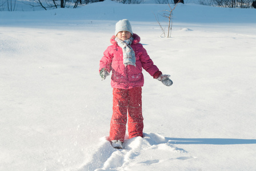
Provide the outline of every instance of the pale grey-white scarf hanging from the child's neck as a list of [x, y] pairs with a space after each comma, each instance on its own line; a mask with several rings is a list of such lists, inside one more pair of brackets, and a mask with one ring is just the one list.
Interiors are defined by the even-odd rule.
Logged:
[[115, 38], [115, 41], [117, 41], [118, 46], [120, 46], [123, 50], [123, 64], [125, 64], [125, 66], [133, 65], [136, 67], [135, 52], [130, 46], [133, 42], [133, 37], [127, 40]]

